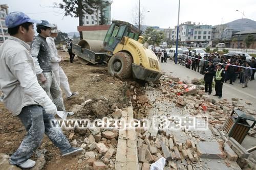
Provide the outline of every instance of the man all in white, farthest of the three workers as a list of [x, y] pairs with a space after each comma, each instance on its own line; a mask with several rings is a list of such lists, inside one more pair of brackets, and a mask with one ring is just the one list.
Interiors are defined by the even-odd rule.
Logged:
[[57, 29], [57, 25], [53, 24], [53, 26], [55, 26], [55, 28], [51, 29], [50, 37], [46, 38], [46, 41], [50, 47], [50, 50], [53, 53], [53, 58], [50, 62], [50, 66], [52, 68], [52, 71], [54, 73], [54, 76], [56, 78], [56, 81], [59, 87], [61, 87], [64, 90], [66, 94], [66, 98], [71, 99], [74, 96], [78, 95], [79, 93], [77, 91], [71, 92], [68, 78], [65, 75], [65, 72], [63, 71], [63, 69], [59, 66], [59, 62], [63, 61], [63, 59], [58, 55], [58, 51], [55, 46], [54, 40], [58, 36], [58, 32], [60, 31]]

